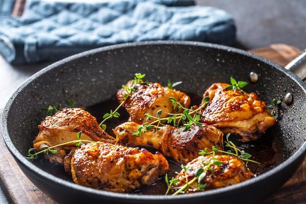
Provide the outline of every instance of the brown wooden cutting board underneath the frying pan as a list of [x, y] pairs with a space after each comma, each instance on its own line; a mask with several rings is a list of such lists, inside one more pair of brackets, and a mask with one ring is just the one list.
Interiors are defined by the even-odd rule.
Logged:
[[[286, 65], [301, 51], [289, 45], [274, 44], [249, 50], [281, 65]], [[2, 111], [1, 111], [2, 112]], [[8, 200], [14, 204], [56, 204], [22, 173], [8, 152], [0, 133], [0, 185]], [[264, 187], [264, 186], [262, 186]], [[306, 159], [297, 172], [283, 187], [260, 204], [305, 204], [306, 203]]]

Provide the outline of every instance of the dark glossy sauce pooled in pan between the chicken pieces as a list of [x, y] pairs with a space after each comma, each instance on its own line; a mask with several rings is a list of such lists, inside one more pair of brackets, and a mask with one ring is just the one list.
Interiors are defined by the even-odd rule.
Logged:
[[[200, 104], [201, 96], [193, 93], [188, 93], [191, 98], [191, 104]], [[102, 121], [102, 116], [104, 113], [108, 113], [110, 109], [114, 110], [118, 105], [117, 100], [115, 97], [108, 101], [104, 101], [93, 106], [87, 107], [86, 111], [91, 113], [93, 116], [97, 118], [97, 121]], [[119, 118], [112, 118], [107, 122], [107, 129], [106, 132], [109, 135], [113, 135], [112, 129], [117, 125], [127, 121], [129, 115], [125, 112], [124, 109], [119, 110], [120, 117]], [[261, 165], [257, 165], [254, 163], [248, 163], [248, 167], [251, 171], [256, 175], [260, 175], [263, 172], [268, 171], [269, 169], [275, 167], [276, 165], [280, 164], [284, 161], [284, 153], [282, 150], [281, 141], [278, 139], [276, 135], [272, 133], [271, 130], [268, 130], [265, 135], [263, 135], [257, 141], [251, 141], [247, 143], [239, 142], [237, 138], [239, 136], [232, 135], [231, 141], [233, 141], [241, 150], [244, 149], [247, 153], [252, 155], [252, 159], [261, 162]], [[156, 152], [154, 149], [147, 148], [151, 152]], [[41, 157], [43, 158], [43, 157]], [[179, 164], [175, 163], [174, 161], [168, 159], [170, 170], [168, 171], [169, 178], [175, 177], [175, 172], [179, 172], [181, 167]], [[48, 173], [62, 178], [66, 181], [71, 181], [71, 176], [68, 175], [62, 166], [54, 165], [48, 162], [45, 159], [36, 159], [33, 163], [40, 168], [44, 169]], [[136, 190], [132, 193], [134, 194], [151, 194], [151, 195], [164, 195], [167, 190], [167, 185], [165, 183], [164, 177], [161, 177], [156, 181], [154, 184], [150, 186], [143, 186], [141, 189]]]

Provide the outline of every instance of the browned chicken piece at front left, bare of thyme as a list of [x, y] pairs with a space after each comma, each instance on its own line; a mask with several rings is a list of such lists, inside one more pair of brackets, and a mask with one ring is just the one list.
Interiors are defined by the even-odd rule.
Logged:
[[151, 185], [169, 169], [167, 159], [148, 150], [110, 143], [87, 143], [65, 159], [75, 183], [113, 192]]

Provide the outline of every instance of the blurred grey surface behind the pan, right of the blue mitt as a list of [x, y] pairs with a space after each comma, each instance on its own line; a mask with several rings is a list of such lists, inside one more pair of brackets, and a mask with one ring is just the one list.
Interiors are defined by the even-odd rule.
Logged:
[[257, 48], [285, 43], [306, 48], [306, 0], [196, 0], [231, 14], [238, 47]]

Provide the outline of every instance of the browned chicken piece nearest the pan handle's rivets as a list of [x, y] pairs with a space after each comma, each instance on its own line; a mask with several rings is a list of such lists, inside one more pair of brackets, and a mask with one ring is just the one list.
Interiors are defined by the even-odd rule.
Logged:
[[200, 121], [214, 125], [224, 134], [237, 133], [242, 141], [257, 139], [275, 124], [264, 102], [256, 93], [226, 90], [229, 84], [215, 83], [203, 95], [210, 102]]

